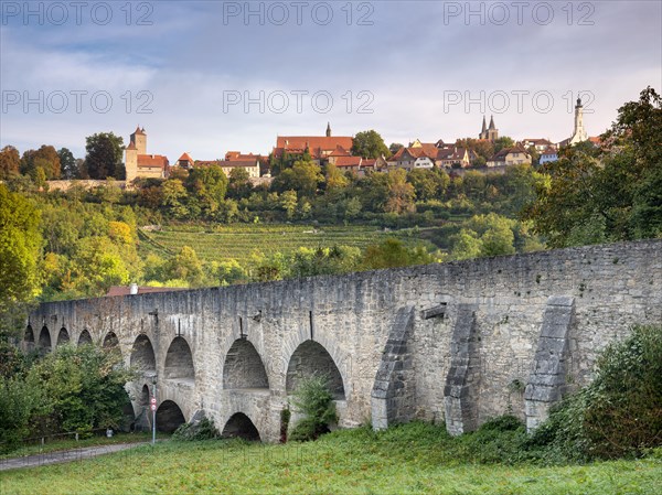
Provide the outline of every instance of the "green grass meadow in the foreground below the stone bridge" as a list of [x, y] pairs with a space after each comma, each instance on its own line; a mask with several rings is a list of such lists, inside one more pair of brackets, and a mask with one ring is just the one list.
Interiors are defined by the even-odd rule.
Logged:
[[[455, 442], [455, 443], [453, 443]], [[453, 448], [452, 445], [456, 445]], [[2, 494], [656, 494], [660, 455], [588, 465], [478, 464], [423, 423], [287, 445], [163, 442], [0, 473]]]

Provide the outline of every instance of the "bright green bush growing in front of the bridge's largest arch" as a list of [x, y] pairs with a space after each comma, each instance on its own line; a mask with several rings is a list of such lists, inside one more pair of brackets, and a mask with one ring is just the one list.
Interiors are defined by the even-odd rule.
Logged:
[[290, 440], [316, 440], [329, 432], [329, 424], [338, 421], [335, 403], [325, 376], [313, 375], [299, 381], [293, 406], [306, 416], [292, 430]]

